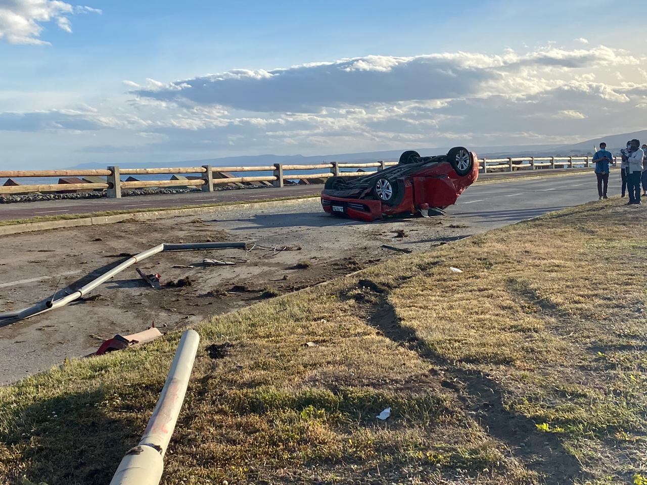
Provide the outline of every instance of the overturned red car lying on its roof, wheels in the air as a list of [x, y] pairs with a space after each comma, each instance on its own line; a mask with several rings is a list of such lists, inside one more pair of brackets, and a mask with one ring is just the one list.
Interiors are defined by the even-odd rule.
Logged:
[[360, 221], [387, 215], [427, 215], [444, 209], [472, 185], [479, 173], [476, 153], [454, 147], [446, 155], [420, 156], [409, 150], [400, 161], [371, 175], [330, 177], [321, 199], [323, 210]]

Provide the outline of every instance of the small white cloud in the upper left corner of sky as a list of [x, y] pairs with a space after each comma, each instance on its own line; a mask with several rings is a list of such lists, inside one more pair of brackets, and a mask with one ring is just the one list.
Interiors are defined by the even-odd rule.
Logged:
[[0, 39], [10, 44], [49, 45], [40, 39], [41, 24], [55, 21], [61, 30], [72, 32], [68, 16], [76, 13], [102, 11], [60, 0], [0, 0]]

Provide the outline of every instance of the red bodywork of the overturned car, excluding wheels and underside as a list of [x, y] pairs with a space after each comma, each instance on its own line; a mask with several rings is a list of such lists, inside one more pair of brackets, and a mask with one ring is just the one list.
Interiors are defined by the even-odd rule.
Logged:
[[[479, 173], [478, 158], [474, 152], [470, 152], [470, 157], [472, 168], [462, 176], [458, 175], [454, 166], [448, 161], [433, 161], [412, 166], [410, 173], [393, 179], [394, 182], [397, 181], [399, 190], [402, 191], [401, 200], [395, 205], [387, 204], [379, 197], [375, 197], [375, 189], [371, 187], [363, 189], [361, 193], [354, 193], [351, 197], [341, 190], [323, 189], [321, 195], [323, 210], [358, 221], [371, 222], [389, 215], [406, 213], [413, 215], [429, 208], [444, 209], [455, 204], [459, 195], [476, 182]], [[388, 169], [383, 172], [387, 171]], [[376, 175], [371, 174], [366, 177], [375, 178]]]

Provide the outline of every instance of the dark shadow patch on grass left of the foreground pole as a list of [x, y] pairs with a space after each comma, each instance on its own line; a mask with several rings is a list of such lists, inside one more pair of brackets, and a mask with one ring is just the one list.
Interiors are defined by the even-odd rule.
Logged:
[[137, 443], [138, 423], [105, 415], [95, 405], [104, 398], [103, 391], [68, 394], [17, 410], [0, 433], [11, 457], [0, 481], [19, 485], [26, 475], [48, 485], [107, 484]]

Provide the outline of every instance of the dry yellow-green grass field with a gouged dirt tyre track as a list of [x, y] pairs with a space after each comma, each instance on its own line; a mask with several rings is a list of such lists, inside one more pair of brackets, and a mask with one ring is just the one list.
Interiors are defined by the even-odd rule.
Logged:
[[[202, 323], [162, 483], [647, 483], [646, 222], [587, 204]], [[0, 481], [109, 482], [178, 339], [0, 389]]]

